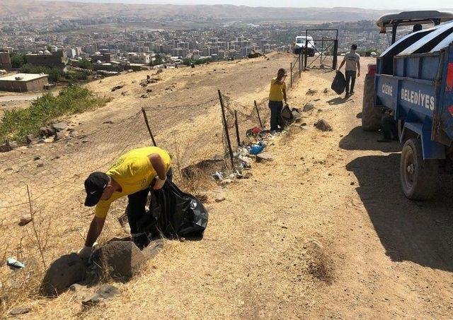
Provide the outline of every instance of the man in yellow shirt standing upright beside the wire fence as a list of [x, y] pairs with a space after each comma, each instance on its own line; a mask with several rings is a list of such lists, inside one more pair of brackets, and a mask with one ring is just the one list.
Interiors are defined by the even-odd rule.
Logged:
[[[286, 83], [285, 78], [287, 77], [285, 69], [279, 69], [277, 77], [270, 81], [269, 91], [269, 109], [270, 109], [270, 132], [282, 130], [285, 124], [283, 124], [280, 113], [283, 109], [283, 101], [287, 105], [286, 98]], [[279, 129], [280, 126], [280, 129]]]

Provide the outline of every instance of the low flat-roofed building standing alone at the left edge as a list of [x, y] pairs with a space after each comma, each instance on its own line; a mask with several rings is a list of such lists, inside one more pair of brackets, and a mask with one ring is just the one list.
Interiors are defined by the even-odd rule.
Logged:
[[47, 74], [44, 73], [18, 73], [0, 78], [0, 90], [26, 93], [42, 90], [48, 82]]

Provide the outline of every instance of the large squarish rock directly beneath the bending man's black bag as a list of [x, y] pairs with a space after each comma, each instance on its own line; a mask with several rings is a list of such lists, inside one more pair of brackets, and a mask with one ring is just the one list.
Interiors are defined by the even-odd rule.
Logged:
[[99, 271], [117, 280], [130, 280], [147, 261], [132, 241], [113, 241], [96, 249], [91, 256]]

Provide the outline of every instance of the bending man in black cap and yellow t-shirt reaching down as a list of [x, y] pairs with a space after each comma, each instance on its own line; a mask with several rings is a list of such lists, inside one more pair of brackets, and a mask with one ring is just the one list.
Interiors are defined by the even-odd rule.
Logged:
[[96, 213], [79, 256], [88, 259], [91, 255], [110, 204], [123, 196], [129, 200], [127, 218], [132, 239], [138, 247], [144, 247], [147, 235], [139, 233], [139, 221], [146, 214], [149, 187], [161, 189], [167, 177], [171, 180], [171, 158], [165, 150], [157, 147], [132, 149], [118, 158], [107, 172], [91, 173], [85, 180], [85, 206], [96, 206]]

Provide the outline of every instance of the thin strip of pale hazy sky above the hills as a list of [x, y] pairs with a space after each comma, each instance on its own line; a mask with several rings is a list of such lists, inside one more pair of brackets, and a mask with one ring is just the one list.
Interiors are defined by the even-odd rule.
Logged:
[[348, 6], [375, 9], [453, 8], [452, 0], [71, 0], [84, 2], [119, 2], [130, 4], [236, 4], [244, 6], [328, 7]]

